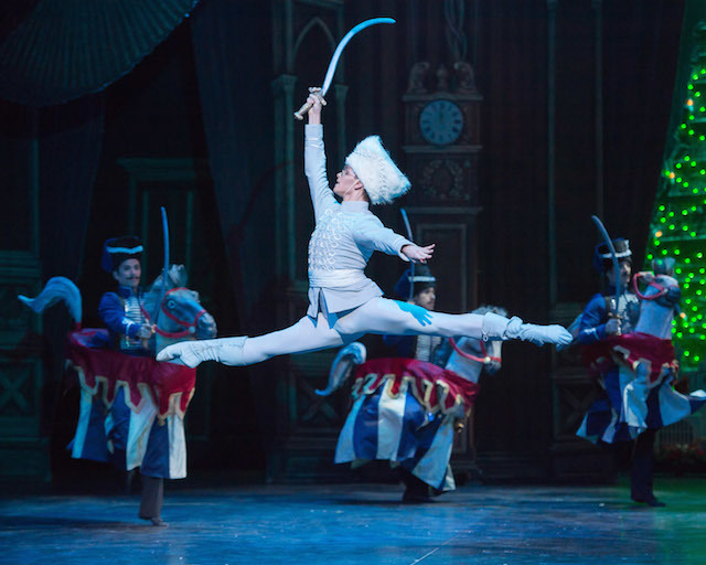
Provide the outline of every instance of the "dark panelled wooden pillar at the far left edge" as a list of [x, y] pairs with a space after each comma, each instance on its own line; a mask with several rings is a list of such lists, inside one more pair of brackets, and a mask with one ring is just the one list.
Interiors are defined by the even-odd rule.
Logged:
[[[7, 113], [8, 110], [4, 109]], [[0, 480], [49, 482], [51, 479], [49, 438], [41, 428], [44, 371], [41, 344], [42, 317], [20, 305], [18, 295], [35, 297], [42, 287], [40, 262], [40, 110], [18, 110], [18, 129], [25, 136], [3, 139], [6, 171], [0, 222], [17, 224], [26, 217], [14, 244], [0, 242], [0, 295], [7, 298], [0, 315]], [[1, 134], [0, 134], [1, 135]], [[15, 163], [24, 171], [12, 175]], [[8, 174], [9, 173], [9, 174]], [[12, 221], [11, 221], [12, 220]]]

